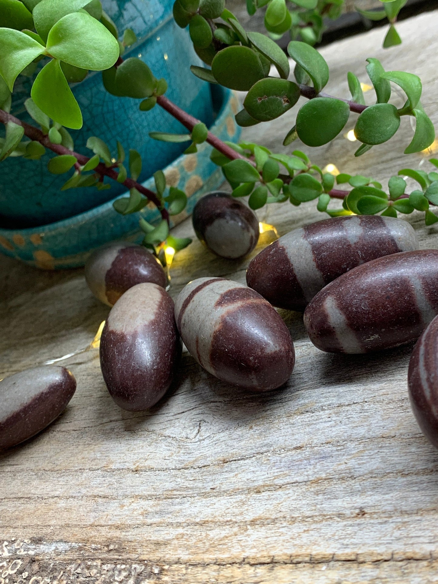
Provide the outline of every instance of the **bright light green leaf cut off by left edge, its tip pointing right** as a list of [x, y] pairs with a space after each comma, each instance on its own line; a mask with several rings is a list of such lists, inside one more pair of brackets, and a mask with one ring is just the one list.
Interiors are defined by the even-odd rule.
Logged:
[[18, 75], [36, 57], [44, 53], [44, 47], [19, 30], [0, 28], [0, 75], [9, 91]]

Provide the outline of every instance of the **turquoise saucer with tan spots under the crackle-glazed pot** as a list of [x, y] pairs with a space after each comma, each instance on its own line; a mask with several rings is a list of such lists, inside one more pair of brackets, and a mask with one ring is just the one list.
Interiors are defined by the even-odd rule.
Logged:
[[[208, 84], [206, 86], [208, 89]], [[211, 91], [217, 111], [213, 110], [215, 121], [210, 130], [221, 140], [237, 141], [240, 134], [234, 120], [238, 111], [237, 98], [217, 85], [211, 86]], [[186, 209], [172, 217], [172, 225], [188, 217], [204, 193], [217, 189], [224, 182], [221, 169], [210, 161], [211, 146], [204, 143], [198, 148], [197, 154], [182, 155], [164, 169], [168, 186], [178, 186], [189, 197]], [[154, 179], [143, 184], [155, 189]], [[123, 238], [140, 243], [143, 237], [138, 228], [140, 215], [151, 223], [161, 220], [159, 211], [151, 203], [141, 213], [123, 216], [114, 211], [113, 200], [43, 227], [0, 228], [0, 251], [43, 269], [77, 267], [84, 265], [93, 249], [107, 241]]]

